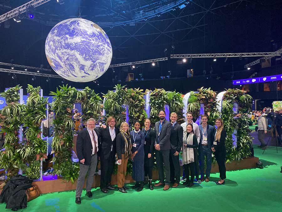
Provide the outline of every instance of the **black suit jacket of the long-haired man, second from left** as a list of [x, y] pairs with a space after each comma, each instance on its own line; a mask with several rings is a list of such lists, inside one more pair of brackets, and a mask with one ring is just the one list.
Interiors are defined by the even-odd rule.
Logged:
[[119, 129], [115, 127], [116, 131], [116, 138], [112, 141], [109, 126], [107, 126], [105, 129], [100, 128], [99, 133], [101, 137], [101, 151], [100, 151], [100, 157], [104, 156], [106, 159], [110, 157], [111, 149], [113, 151], [113, 154], [116, 154], [117, 151], [117, 145], [116, 145], [116, 139], [117, 135], [119, 133]]

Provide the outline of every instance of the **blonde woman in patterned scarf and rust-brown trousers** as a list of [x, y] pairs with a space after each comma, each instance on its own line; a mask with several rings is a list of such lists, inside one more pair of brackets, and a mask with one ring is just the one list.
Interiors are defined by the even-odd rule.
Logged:
[[120, 125], [120, 133], [117, 135], [117, 155], [118, 161], [118, 191], [127, 193], [127, 188], [124, 185], [126, 167], [128, 159], [131, 157], [131, 139], [129, 133], [129, 126], [127, 122], [122, 122]]

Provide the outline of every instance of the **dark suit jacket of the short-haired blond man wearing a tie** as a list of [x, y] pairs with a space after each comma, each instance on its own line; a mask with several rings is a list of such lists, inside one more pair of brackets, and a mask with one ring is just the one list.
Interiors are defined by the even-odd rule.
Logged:
[[182, 145], [183, 145], [183, 128], [180, 126], [180, 124], [176, 122], [174, 127], [171, 127], [170, 147], [171, 149], [180, 152]]

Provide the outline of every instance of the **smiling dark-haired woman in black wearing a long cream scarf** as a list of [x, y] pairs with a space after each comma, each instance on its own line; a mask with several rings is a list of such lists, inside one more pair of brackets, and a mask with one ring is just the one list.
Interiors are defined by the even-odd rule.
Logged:
[[[182, 164], [186, 176], [186, 182], [184, 183], [187, 187], [194, 185], [195, 177], [195, 156], [196, 148], [198, 148], [197, 137], [193, 131], [193, 125], [187, 124], [186, 131], [183, 132], [183, 146], [182, 146]], [[189, 169], [191, 172], [191, 179], [189, 181]]]

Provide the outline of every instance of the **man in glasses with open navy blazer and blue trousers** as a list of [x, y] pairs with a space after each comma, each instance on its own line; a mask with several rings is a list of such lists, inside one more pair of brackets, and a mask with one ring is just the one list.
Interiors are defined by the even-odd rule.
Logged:
[[[210, 181], [210, 173], [212, 169], [212, 129], [211, 125], [207, 124], [207, 115], [201, 116], [202, 124], [199, 126], [200, 143], [199, 143], [199, 163], [201, 171], [201, 181]], [[204, 180], [204, 157], [206, 155], [206, 179]]]

